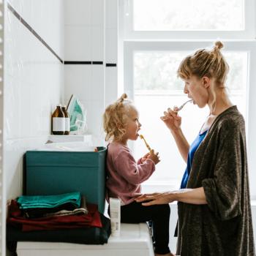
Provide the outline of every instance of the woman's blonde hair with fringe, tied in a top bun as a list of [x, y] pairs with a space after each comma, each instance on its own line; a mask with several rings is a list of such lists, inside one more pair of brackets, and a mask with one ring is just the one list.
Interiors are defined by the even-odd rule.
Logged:
[[217, 41], [212, 50], [200, 49], [187, 56], [178, 67], [178, 76], [182, 79], [189, 79], [192, 75], [197, 78], [207, 76], [223, 86], [229, 66], [220, 52], [222, 47], [222, 42]]

